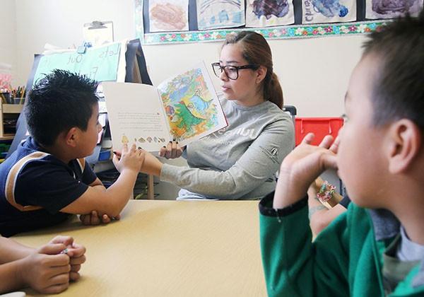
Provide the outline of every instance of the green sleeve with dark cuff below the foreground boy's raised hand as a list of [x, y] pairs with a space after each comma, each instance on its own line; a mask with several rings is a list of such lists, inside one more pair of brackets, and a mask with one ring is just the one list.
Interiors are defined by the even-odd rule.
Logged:
[[268, 296], [349, 296], [346, 214], [312, 242], [307, 198], [273, 209], [273, 195], [259, 204]]

